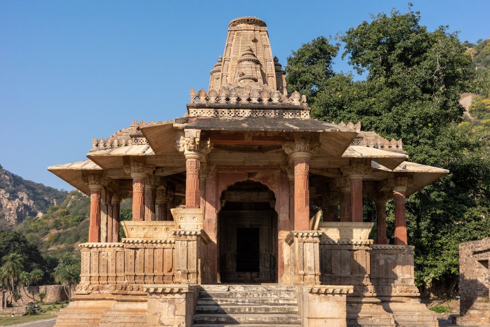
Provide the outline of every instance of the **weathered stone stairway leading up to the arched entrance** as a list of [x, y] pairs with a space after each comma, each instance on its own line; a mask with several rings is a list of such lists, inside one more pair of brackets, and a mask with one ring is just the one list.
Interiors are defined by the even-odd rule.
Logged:
[[201, 285], [193, 327], [301, 327], [296, 288]]

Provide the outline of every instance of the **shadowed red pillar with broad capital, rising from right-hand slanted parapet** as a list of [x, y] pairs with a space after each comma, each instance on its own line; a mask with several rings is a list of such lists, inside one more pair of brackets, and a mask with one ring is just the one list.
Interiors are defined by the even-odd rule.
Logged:
[[342, 173], [350, 180], [351, 222], [363, 222], [363, 179], [371, 167], [364, 163], [352, 163], [342, 168]]

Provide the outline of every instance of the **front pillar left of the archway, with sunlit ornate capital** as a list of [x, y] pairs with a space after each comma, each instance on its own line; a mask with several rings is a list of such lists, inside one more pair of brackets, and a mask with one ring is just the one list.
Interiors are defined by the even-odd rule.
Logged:
[[187, 209], [200, 207], [200, 165], [205, 155], [212, 150], [211, 141], [208, 140], [205, 145], [201, 145], [199, 135], [198, 130], [185, 130], [185, 137], [182, 137], [177, 145], [177, 150], [183, 152], [186, 159], [185, 206]]

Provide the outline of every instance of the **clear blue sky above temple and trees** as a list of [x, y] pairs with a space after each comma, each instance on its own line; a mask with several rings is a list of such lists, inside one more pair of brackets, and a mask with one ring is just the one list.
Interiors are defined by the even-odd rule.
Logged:
[[[228, 23], [256, 16], [272, 54], [408, 10], [407, 0], [0, 0], [0, 165], [58, 189], [48, 166], [86, 160], [92, 138], [133, 119], [186, 113], [189, 90], [207, 90]], [[412, 0], [421, 25], [449, 25], [461, 41], [490, 37], [490, 0]], [[351, 70], [336, 60], [336, 71]]]

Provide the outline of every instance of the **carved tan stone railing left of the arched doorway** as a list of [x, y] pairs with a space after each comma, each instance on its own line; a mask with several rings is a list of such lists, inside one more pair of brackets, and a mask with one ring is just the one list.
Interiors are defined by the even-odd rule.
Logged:
[[208, 282], [209, 271], [201, 262], [206, 262], [209, 237], [196, 229], [202, 226], [202, 212], [196, 212], [200, 209], [189, 210], [179, 209], [178, 224], [123, 221], [127, 237], [121, 243], [81, 244], [76, 294], [142, 295], [144, 285]]

